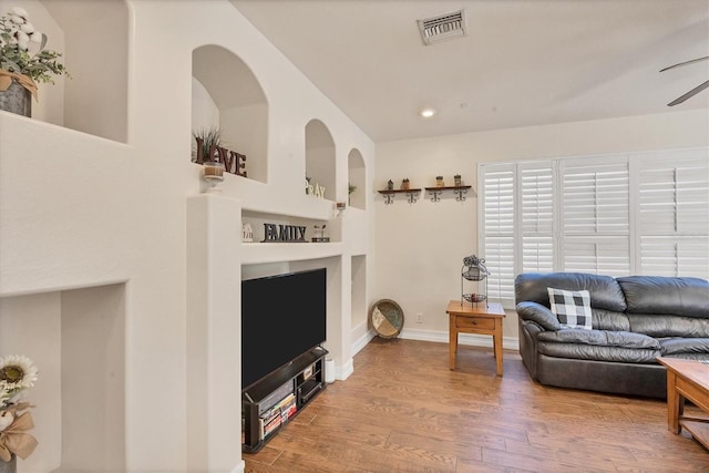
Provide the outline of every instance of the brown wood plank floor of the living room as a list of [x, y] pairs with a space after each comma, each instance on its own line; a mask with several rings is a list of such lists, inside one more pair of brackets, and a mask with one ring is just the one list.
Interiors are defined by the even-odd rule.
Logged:
[[[520, 354], [376, 338], [246, 472], [709, 472], [662, 401], [534, 383]], [[686, 412], [695, 409], [687, 409]]]

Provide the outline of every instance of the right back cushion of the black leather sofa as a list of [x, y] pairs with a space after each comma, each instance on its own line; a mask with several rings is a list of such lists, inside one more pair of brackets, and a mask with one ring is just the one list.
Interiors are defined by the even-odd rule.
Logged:
[[709, 281], [699, 278], [628, 276], [617, 278], [628, 313], [709, 319]]

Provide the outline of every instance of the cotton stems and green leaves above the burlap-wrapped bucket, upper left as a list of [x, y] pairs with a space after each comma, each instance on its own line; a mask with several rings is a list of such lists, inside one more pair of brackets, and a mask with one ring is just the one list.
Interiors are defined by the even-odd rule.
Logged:
[[[39, 44], [34, 54], [30, 45]], [[54, 83], [52, 74], [69, 75], [64, 64], [58, 61], [61, 53], [45, 50], [47, 34], [37, 31], [30, 23], [27, 11], [13, 7], [0, 17], [0, 69], [27, 75], [34, 82]]]

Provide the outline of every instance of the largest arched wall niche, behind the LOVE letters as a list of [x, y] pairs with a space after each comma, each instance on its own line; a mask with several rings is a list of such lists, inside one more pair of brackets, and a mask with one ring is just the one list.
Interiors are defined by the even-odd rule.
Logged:
[[208, 44], [192, 52], [192, 133], [218, 130], [222, 147], [246, 156], [245, 167], [234, 165], [232, 174], [265, 183], [268, 101], [251, 70], [232, 51]]

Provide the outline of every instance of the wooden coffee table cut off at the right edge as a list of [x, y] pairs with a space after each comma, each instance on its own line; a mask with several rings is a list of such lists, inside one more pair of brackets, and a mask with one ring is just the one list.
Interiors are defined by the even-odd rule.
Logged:
[[658, 358], [667, 367], [667, 428], [680, 433], [682, 428], [709, 449], [709, 419], [685, 417], [685, 400], [709, 413], [709, 364], [679, 358]]

